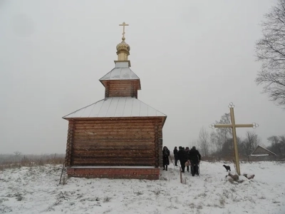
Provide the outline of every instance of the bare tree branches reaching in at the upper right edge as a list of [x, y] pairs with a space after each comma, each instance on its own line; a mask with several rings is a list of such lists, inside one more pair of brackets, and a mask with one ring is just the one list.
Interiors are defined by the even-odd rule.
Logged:
[[285, 1], [279, 0], [262, 22], [263, 37], [256, 44], [257, 60], [262, 61], [257, 84], [279, 106], [285, 106]]

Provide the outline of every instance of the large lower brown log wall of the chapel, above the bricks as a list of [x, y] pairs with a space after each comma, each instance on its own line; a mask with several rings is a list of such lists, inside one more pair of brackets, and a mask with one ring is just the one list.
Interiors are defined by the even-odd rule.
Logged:
[[162, 118], [81, 119], [69, 127], [69, 165], [162, 165]]

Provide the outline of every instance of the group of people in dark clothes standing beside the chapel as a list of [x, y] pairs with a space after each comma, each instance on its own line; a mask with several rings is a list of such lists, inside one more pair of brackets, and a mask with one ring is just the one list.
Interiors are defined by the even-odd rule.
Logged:
[[[189, 149], [189, 147], [184, 148], [180, 146], [179, 150], [177, 150], [177, 146], [175, 146], [173, 154], [175, 158], [175, 166], [177, 166], [177, 162], [180, 161], [182, 173], [185, 173], [185, 163], [187, 163], [187, 172], [190, 172], [191, 165], [192, 175], [199, 175], [199, 163], [201, 161], [201, 155], [195, 146], [193, 146], [191, 149]], [[166, 146], [164, 146], [162, 150], [163, 170], [167, 170], [167, 165], [170, 164], [168, 158], [169, 156], [170, 151]]]

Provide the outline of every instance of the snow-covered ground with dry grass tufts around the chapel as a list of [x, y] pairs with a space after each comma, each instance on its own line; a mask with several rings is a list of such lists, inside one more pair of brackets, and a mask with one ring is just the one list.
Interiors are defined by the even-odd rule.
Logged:
[[[242, 183], [225, 178], [224, 163], [200, 164], [200, 175], [170, 165], [160, 180], [68, 178], [61, 165], [0, 171], [0, 213], [285, 213], [285, 163], [241, 163], [254, 173]], [[234, 168], [232, 164], [231, 168]]]

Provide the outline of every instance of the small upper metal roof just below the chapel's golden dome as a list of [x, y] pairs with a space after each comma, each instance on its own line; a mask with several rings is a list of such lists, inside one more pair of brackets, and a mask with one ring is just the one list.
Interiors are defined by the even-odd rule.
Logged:
[[105, 76], [100, 78], [100, 81], [105, 80], [127, 80], [140, 79], [132, 70], [130, 70], [128, 61], [116, 61], [115, 68]]

